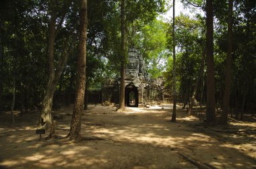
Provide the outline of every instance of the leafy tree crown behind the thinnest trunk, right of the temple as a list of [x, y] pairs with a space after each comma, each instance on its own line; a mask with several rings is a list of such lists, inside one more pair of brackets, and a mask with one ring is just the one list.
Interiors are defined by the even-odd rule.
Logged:
[[[177, 93], [179, 100], [185, 93], [192, 93], [197, 77], [197, 71], [204, 52], [204, 27], [201, 18], [191, 18], [188, 15], [179, 15], [176, 19], [176, 40], [177, 40]], [[167, 30], [168, 48], [172, 50], [172, 24]], [[164, 73], [166, 89], [171, 89], [172, 81], [172, 58], [169, 58], [167, 70]]]

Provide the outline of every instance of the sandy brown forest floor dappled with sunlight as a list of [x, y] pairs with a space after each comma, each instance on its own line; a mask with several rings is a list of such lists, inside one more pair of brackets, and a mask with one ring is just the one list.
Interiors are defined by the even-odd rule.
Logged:
[[[36, 135], [38, 113], [10, 125], [9, 112], [0, 115], [0, 168], [197, 168], [183, 155], [215, 168], [256, 168], [256, 120], [205, 127], [178, 107], [170, 123], [172, 105], [150, 108], [89, 106], [82, 117], [82, 135], [95, 140], [78, 144], [49, 144]], [[56, 133], [69, 132], [73, 107], [54, 111]], [[220, 132], [221, 131], [221, 132]]]

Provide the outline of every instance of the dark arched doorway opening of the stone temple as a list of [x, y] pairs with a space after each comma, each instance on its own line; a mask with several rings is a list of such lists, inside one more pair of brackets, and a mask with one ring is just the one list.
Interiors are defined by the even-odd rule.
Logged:
[[133, 82], [130, 82], [125, 87], [125, 106], [139, 107], [138, 89]]

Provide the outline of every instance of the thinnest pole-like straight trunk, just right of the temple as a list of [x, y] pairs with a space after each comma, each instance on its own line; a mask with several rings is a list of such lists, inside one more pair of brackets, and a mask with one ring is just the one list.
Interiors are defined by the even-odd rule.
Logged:
[[175, 0], [173, 0], [173, 18], [172, 18], [172, 52], [173, 52], [173, 109], [172, 109], [172, 119], [171, 121], [176, 121], [176, 56], [175, 56]]

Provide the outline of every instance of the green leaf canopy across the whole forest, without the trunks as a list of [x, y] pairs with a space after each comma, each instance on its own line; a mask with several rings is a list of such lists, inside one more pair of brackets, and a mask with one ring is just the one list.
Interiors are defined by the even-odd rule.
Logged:
[[[172, 24], [155, 19], [163, 12], [164, 0], [125, 1], [127, 44], [139, 50], [152, 78], [164, 76], [166, 89], [172, 86]], [[183, 1], [190, 9], [205, 1]], [[91, 88], [100, 88], [104, 76], [117, 77], [120, 68], [121, 32], [120, 2], [88, 0], [88, 58], [86, 73]], [[191, 5], [193, 4], [193, 5]], [[256, 97], [256, 2], [234, 0], [232, 90], [230, 105], [255, 107]], [[56, 10], [57, 36], [55, 64], [61, 52], [71, 45], [77, 33], [79, 5], [77, 1], [3, 0], [0, 6], [1, 84], [5, 105], [9, 106], [13, 79], [22, 104], [40, 105], [47, 82], [47, 32], [51, 12]], [[221, 104], [224, 90], [227, 44], [227, 1], [214, 1], [214, 61], [216, 68], [216, 98]], [[177, 90], [179, 96], [191, 95], [201, 56], [205, 50], [205, 18], [201, 15], [176, 17], [177, 27]], [[67, 38], [71, 35], [71, 38]], [[71, 52], [57, 89], [61, 93], [75, 90], [77, 48]], [[14, 78], [13, 78], [14, 77]], [[171, 91], [169, 91], [171, 93]], [[201, 93], [201, 92], [200, 92]], [[250, 95], [249, 95], [250, 93]], [[62, 94], [64, 95], [64, 94]], [[198, 96], [197, 96], [198, 97]], [[22, 98], [24, 101], [22, 101]], [[234, 105], [235, 98], [238, 99]], [[242, 99], [241, 99], [242, 98]], [[243, 98], [246, 101], [243, 101]], [[34, 103], [33, 103], [34, 102]], [[245, 102], [245, 103], [243, 103]]]

